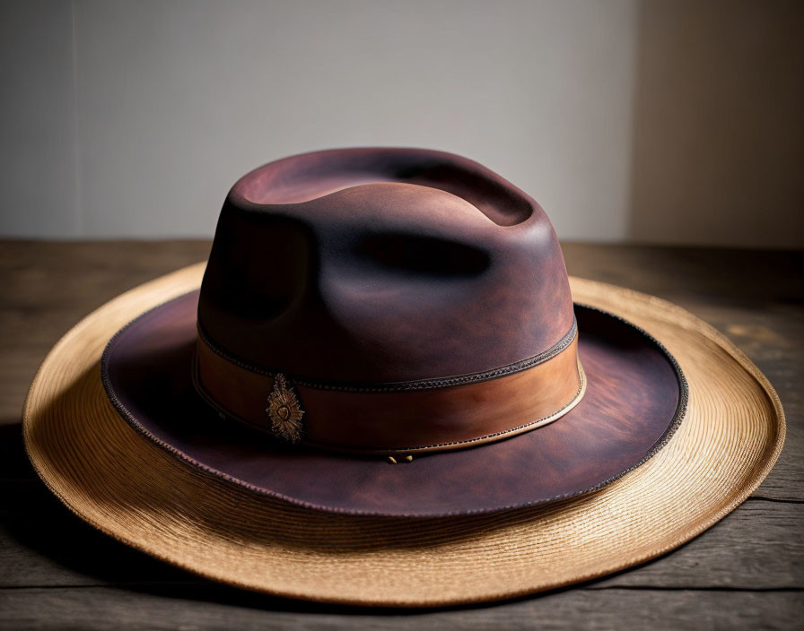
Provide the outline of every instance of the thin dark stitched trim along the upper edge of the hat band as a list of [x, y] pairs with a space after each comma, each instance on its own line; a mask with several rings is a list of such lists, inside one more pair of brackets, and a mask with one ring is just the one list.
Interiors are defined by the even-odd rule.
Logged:
[[566, 333], [561, 340], [557, 341], [549, 349], [539, 353], [538, 355], [529, 357], [528, 359], [520, 359], [520, 361], [516, 361], [506, 366], [493, 368], [491, 370], [485, 370], [478, 373], [469, 373], [468, 375], [438, 377], [434, 379], [417, 379], [415, 381], [399, 381], [390, 384], [338, 383], [327, 380], [306, 379], [303, 376], [296, 376], [291, 373], [287, 373], [284, 370], [267, 370], [265, 368], [256, 367], [221, 349], [221, 347], [215, 344], [214, 341], [211, 341], [208, 333], [205, 332], [200, 322], [197, 324], [197, 329], [198, 338], [203, 341], [206, 346], [209, 347], [209, 349], [212, 350], [216, 355], [237, 367], [249, 370], [249, 372], [257, 375], [275, 376], [276, 373], [281, 372], [290, 377], [290, 379], [293, 381], [293, 385], [302, 385], [306, 388], [313, 388], [315, 390], [336, 390], [338, 392], [346, 393], [389, 393], [430, 390], [433, 388], [445, 388], [454, 385], [475, 384], [527, 370], [528, 368], [532, 368], [538, 364], [546, 362], [547, 359], [553, 359], [562, 350], [566, 349], [578, 334], [578, 321], [575, 319], [573, 314], [572, 326], [570, 327], [569, 332]]

